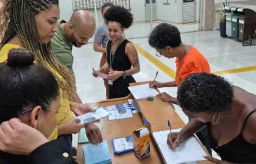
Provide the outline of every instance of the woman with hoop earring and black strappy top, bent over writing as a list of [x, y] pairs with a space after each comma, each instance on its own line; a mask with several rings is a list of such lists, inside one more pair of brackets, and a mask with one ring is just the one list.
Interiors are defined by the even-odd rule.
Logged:
[[232, 86], [223, 77], [196, 73], [177, 91], [177, 101], [191, 119], [181, 133], [168, 135], [175, 149], [207, 126], [210, 146], [222, 158], [215, 163], [256, 163], [256, 95]]

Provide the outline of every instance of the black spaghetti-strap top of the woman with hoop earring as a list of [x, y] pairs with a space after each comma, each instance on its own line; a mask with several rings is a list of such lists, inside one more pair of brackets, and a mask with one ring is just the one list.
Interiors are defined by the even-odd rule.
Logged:
[[210, 124], [208, 124], [210, 147], [217, 152], [222, 160], [233, 163], [256, 163], [256, 145], [247, 142], [242, 135], [248, 118], [254, 112], [256, 112], [256, 109], [252, 110], [245, 118], [240, 134], [221, 147], [218, 147], [214, 140]]

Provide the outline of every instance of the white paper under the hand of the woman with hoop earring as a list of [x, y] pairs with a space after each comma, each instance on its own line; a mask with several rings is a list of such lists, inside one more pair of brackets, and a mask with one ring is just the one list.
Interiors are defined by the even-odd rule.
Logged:
[[[179, 132], [181, 129], [172, 130], [172, 132]], [[153, 136], [156, 143], [163, 154], [163, 158], [166, 163], [191, 163], [196, 161], [206, 160], [203, 156], [206, 156], [206, 152], [203, 151], [200, 144], [196, 141], [195, 137], [189, 137], [184, 140], [177, 149], [174, 151], [170, 149], [167, 141], [167, 135], [170, 131], [154, 132]]]

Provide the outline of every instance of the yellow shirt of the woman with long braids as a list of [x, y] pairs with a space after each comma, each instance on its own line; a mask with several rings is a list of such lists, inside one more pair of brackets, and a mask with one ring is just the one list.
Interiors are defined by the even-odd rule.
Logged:
[[[5, 62], [8, 59], [9, 51], [12, 50], [12, 49], [15, 49], [15, 48], [20, 48], [20, 46], [19, 45], [12, 45], [12, 44], [4, 45], [4, 47], [0, 51], [0, 63]], [[63, 79], [63, 77], [56, 70], [54, 70], [51, 67], [50, 67], [50, 70], [52, 71], [52, 73], [55, 73], [55, 75], [57, 75], [60, 79]], [[73, 114], [72, 114], [72, 111], [70, 110], [69, 100], [67, 100], [63, 97], [63, 91], [62, 91], [61, 88], [60, 88], [60, 96], [61, 96], [60, 105], [67, 107], [67, 110], [68, 110], [67, 112], [69, 112], [67, 117], [59, 123], [59, 124], [64, 124], [67, 121], [70, 121], [72, 119]], [[64, 109], [64, 107], [62, 107], [60, 109]], [[57, 114], [57, 119], [58, 119], [58, 117], [63, 117], [62, 112], [65, 112], [65, 111], [60, 111], [59, 110], [59, 112], [60, 112], [60, 114]], [[57, 137], [58, 137], [58, 130], [57, 130], [57, 128], [55, 128], [55, 130], [53, 131], [52, 135], [50, 135], [48, 140], [55, 140]]]

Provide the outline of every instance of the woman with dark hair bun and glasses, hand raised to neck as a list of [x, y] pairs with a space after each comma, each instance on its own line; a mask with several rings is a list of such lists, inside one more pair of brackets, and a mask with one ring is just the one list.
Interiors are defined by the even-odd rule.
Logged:
[[0, 163], [76, 163], [65, 138], [47, 139], [68, 113], [53, 73], [34, 60], [14, 49], [0, 64]]

